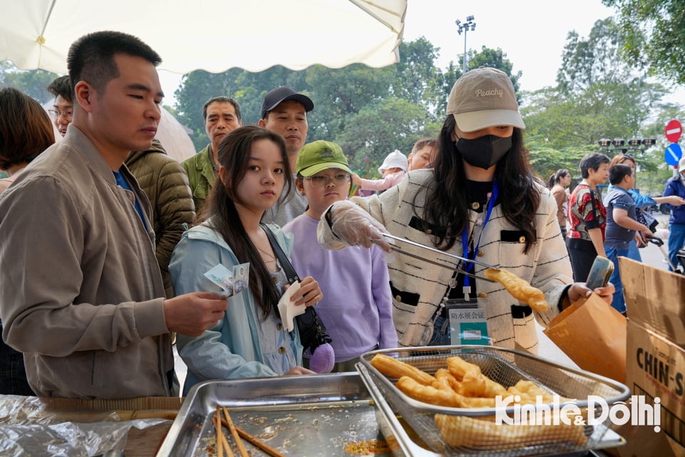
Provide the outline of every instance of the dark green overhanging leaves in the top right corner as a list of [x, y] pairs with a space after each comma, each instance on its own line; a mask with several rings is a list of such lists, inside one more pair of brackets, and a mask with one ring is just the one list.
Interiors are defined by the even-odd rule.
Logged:
[[624, 61], [685, 84], [685, 0], [602, 0], [617, 9]]

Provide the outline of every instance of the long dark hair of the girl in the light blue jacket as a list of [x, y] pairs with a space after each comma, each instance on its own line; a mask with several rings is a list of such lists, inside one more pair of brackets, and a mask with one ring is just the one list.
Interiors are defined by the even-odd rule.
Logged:
[[262, 311], [263, 318], [266, 318], [272, 311], [275, 312], [281, 293], [271, 280], [259, 251], [245, 232], [234, 203], [240, 201], [238, 185], [243, 181], [247, 171], [252, 145], [262, 139], [273, 141], [280, 149], [285, 177], [283, 189], [292, 187], [293, 178], [283, 137], [261, 127], [240, 127], [226, 135], [219, 144], [218, 161], [228, 170], [228, 182], [223, 184], [217, 176], [199, 219], [215, 216], [208, 225], [223, 236], [240, 263], [250, 263], [250, 291]]

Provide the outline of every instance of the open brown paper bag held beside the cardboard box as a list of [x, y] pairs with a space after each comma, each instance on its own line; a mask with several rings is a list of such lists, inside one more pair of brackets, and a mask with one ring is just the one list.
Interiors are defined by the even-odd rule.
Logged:
[[544, 334], [584, 370], [626, 381], [626, 318], [592, 293], [552, 319]]

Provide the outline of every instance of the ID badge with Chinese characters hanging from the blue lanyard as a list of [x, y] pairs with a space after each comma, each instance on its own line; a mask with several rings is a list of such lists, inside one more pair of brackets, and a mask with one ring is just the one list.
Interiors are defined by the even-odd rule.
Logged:
[[485, 308], [475, 302], [447, 303], [452, 344], [480, 344], [489, 346]]

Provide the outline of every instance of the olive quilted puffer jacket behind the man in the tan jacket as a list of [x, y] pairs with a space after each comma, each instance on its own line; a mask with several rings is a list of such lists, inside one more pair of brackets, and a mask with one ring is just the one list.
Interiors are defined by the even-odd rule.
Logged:
[[[195, 204], [188, 176], [178, 161], [166, 155], [158, 139], [145, 151], [133, 151], [124, 164], [136, 176], [152, 206], [155, 256], [164, 281], [166, 297], [173, 297], [169, 260], [186, 227], [195, 219]], [[186, 224], [184, 226], [183, 224]]]

